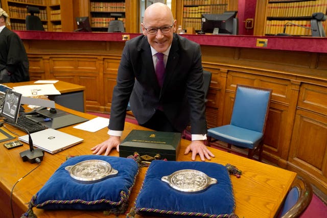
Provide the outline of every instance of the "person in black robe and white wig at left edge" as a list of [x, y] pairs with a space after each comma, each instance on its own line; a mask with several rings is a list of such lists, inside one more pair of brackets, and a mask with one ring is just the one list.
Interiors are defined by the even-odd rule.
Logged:
[[0, 8], [0, 83], [30, 81], [24, 44], [6, 25], [9, 25], [9, 16]]

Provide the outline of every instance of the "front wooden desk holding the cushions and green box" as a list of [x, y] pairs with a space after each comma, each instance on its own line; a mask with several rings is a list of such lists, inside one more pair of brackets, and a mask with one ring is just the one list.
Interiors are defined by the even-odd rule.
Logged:
[[[63, 107], [58, 106], [59, 109]], [[67, 109], [68, 112], [75, 113], [86, 118], [94, 118], [94, 115], [75, 112]], [[9, 126], [9, 125], [7, 125]], [[126, 123], [122, 138], [132, 129], [145, 129], [134, 124]], [[76, 135], [84, 139], [84, 141], [72, 148], [59, 152], [55, 155], [45, 153], [41, 165], [33, 171], [30, 175], [17, 183], [13, 192], [13, 201], [15, 209], [15, 217], [27, 210], [27, 202], [32, 196], [42, 187], [42, 185], [51, 177], [55, 170], [62, 164], [68, 155], [85, 155], [91, 154], [90, 148], [108, 138], [107, 128], [98, 132], [90, 133], [83, 130], [74, 129], [72, 127], [65, 127], [60, 131]], [[24, 134], [24, 133], [22, 133]], [[179, 161], [190, 161], [191, 154], [183, 155], [184, 149], [188, 146], [189, 141], [182, 139], [181, 149], [178, 156]], [[22, 162], [19, 153], [29, 148], [27, 144], [23, 147], [7, 150], [3, 146], [0, 147], [0, 213], [5, 214], [3, 217], [11, 217], [9, 196], [14, 183], [22, 176], [26, 175], [36, 164], [29, 162]], [[233, 190], [236, 199], [236, 214], [240, 217], [246, 218], [268, 218], [274, 217], [276, 211], [285, 198], [291, 183], [293, 182], [296, 173], [287, 171], [282, 168], [277, 168], [272, 165], [250, 160], [244, 157], [226, 153], [214, 148], [209, 148], [214, 154], [215, 158], [212, 162], [221, 164], [230, 163], [236, 165], [242, 170], [241, 178], [231, 176]], [[119, 156], [114, 150], [110, 153], [113, 156]], [[197, 161], [200, 159], [197, 157]], [[142, 181], [147, 171], [146, 167], [141, 168], [137, 176], [136, 183], [132, 189], [130, 196], [130, 206], [133, 204]], [[3, 210], [3, 211], [2, 211]], [[58, 211], [44, 211], [33, 208], [37, 217], [103, 217], [102, 211], [80, 211], [80, 210], [58, 210]], [[7, 215], [7, 216], [6, 216]], [[110, 217], [114, 217], [113, 215]], [[120, 215], [119, 217], [126, 217]], [[139, 216], [138, 216], [139, 217]]]

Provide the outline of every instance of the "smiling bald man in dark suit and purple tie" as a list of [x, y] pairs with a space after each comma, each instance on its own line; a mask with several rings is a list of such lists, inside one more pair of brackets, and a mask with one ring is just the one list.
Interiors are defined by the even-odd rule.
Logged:
[[[141, 126], [182, 132], [191, 124], [192, 142], [184, 154], [192, 151], [192, 160], [196, 155], [202, 161], [210, 160], [214, 155], [204, 144], [207, 127], [199, 44], [175, 33], [177, 21], [165, 4], [149, 6], [141, 25], [143, 35], [127, 41], [123, 50], [113, 89], [109, 139], [91, 148], [93, 154], [109, 155], [113, 148], [119, 151], [130, 102]], [[156, 68], [160, 56], [164, 66]], [[163, 76], [156, 75], [159, 71]]]

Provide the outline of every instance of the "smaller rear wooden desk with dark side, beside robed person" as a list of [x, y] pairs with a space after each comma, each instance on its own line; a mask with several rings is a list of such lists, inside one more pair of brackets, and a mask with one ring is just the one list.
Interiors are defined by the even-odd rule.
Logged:
[[[35, 81], [19, 82], [19, 83], [5, 83], [9, 87], [37, 85]], [[49, 99], [55, 101], [57, 104], [67, 107], [69, 109], [80, 112], [85, 111], [85, 86], [58, 81], [54, 86], [61, 94], [49, 95]]]

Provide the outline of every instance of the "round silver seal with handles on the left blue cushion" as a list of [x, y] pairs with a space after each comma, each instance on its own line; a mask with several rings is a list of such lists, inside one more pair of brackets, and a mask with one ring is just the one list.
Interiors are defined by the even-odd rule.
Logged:
[[103, 160], [85, 160], [66, 166], [65, 169], [73, 179], [80, 183], [95, 183], [118, 174], [116, 169]]

